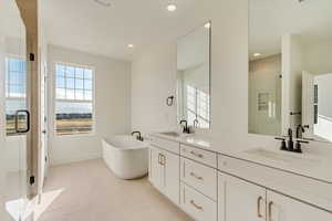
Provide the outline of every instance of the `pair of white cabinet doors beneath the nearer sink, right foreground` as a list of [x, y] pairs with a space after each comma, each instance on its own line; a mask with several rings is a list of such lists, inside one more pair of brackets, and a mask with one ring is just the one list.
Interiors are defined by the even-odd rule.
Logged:
[[218, 221], [237, 220], [331, 221], [332, 213], [269, 187], [218, 172]]

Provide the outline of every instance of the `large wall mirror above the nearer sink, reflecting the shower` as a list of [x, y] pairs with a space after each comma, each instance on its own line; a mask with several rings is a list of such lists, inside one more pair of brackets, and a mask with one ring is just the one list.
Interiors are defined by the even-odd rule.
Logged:
[[332, 1], [249, 0], [249, 133], [332, 141]]

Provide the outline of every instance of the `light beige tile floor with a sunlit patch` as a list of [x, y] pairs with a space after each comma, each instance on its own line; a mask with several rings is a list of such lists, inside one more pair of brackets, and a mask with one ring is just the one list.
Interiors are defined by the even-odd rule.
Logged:
[[52, 167], [39, 221], [193, 221], [147, 178], [121, 180], [102, 159]]

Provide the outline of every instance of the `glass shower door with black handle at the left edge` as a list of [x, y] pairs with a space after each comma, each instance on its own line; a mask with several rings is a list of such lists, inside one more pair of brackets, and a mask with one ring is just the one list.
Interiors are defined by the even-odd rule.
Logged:
[[[6, 21], [6, 23], [2, 23]], [[10, 25], [6, 25], [10, 24]], [[3, 203], [0, 215], [7, 220], [24, 220], [28, 208], [29, 149], [29, 81], [27, 69], [25, 25], [12, 0], [2, 0], [0, 7], [0, 154]], [[0, 196], [0, 198], [1, 198]]]

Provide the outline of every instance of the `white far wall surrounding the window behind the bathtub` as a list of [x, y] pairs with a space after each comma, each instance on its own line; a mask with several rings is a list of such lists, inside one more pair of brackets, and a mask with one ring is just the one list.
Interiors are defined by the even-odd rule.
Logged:
[[[68, 62], [95, 69], [95, 134], [55, 136], [52, 84], [54, 62]], [[131, 131], [131, 63], [104, 56], [49, 46], [49, 155], [51, 165], [80, 161], [102, 156], [103, 137]]]

